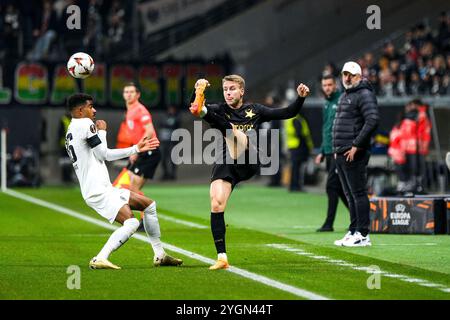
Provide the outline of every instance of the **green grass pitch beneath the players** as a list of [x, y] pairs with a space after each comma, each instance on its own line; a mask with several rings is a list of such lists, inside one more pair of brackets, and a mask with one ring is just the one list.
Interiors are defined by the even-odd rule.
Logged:
[[[78, 188], [17, 191], [102, 219]], [[209, 186], [155, 185], [144, 192], [157, 201], [165, 243], [215, 259]], [[372, 247], [335, 247], [348, 214], [340, 206], [335, 232], [316, 233], [325, 210], [324, 195], [243, 184], [225, 213], [231, 265], [329, 299], [450, 298], [450, 236], [373, 234]], [[172, 252], [183, 266], [154, 268], [150, 245], [138, 239], [111, 256], [122, 270], [89, 270], [111, 230], [3, 193], [0, 216], [0, 299], [304, 298], [233, 272], [210, 271], [208, 264], [179, 253]], [[71, 265], [80, 267], [80, 289], [67, 288]], [[374, 276], [364, 269], [369, 266], [384, 272], [377, 278], [379, 289], [368, 288]]]

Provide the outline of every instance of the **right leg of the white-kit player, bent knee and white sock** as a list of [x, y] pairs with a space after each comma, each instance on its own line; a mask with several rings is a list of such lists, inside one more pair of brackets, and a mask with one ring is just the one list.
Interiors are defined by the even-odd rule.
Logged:
[[129, 202], [133, 210], [144, 212], [144, 228], [147, 233], [150, 244], [155, 254], [153, 259], [154, 266], [179, 266], [182, 260], [168, 255], [161, 243], [161, 231], [159, 228], [158, 216], [156, 213], [156, 202], [135, 192], [130, 192]]

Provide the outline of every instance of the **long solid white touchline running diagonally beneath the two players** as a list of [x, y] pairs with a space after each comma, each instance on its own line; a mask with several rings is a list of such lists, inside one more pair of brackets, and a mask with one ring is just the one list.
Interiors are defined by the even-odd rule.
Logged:
[[[34, 198], [34, 197], [29, 196], [29, 195], [26, 195], [26, 194], [23, 194], [23, 193], [20, 193], [20, 192], [16, 192], [16, 191], [13, 191], [13, 190], [9, 190], [9, 189], [5, 190], [4, 192], [6, 194], [12, 196], [12, 197], [19, 198], [21, 200], [37, 204], [39, 206], [42, 206], [42, 207], [45, 207], [45, 208], [48, 208], [48, 209], [51, 209], [51, 210], [54, 210], [54, 211], [66, 214], [68, 216], [71, 216], [71, 217], [74, 217], [74, 218], [77, 218], [77, 219], [80, 219], [80, 220], [83, 220], [83, 221], [86, 221], [86, 222], [90, 222], [92, 224], [95, 224], [95, 225], [100, 226], [100, 227], [104, 227], [106, 229], [110, 229], [110, 230], [117, 229], [117, 227], [113, 226], [112, 224], [106, 223], [104, 221], [101, 221], [101, 220], [98, 220], [98, 219], [95, 219], [95, 218], [88, 217], [88, 216], [86, 216], [86, 215], [84, 215], [82, 213], [79, 213], [79, 212], [67, 209], [65, 207], [59, 206], [57, 204], [53, 204], [51, 202], [47, 202], [47, 201], [44, 201], [44, 200], [41, 200], [41, 199], [38, 199], [38, 198]], [[138, 240], [150, 243], [150, 240], [147, 237], [143, 236], [143, 235], [134, 234], [133, 237], [138, 239]], [[163, 246], [164, 246], [164, 248], [166, 248], [166, 249], [168, 249], [170, 251], [182, 254], [182, 255], [184, 255], [186, 257], [190, 257], [192, 259], [204, 262], [206, 264], [214, 264], [216, 262], [213, 259], [206, 258], [206, 257], [204, 257], [202, 255], [197, 254], [197, 253], [178, 248], [178, 247], [173, 246], [173, 245], [168, 244], [168, 243], [163, 243]], [[259, 274], [253, 273], [253, 272], [249, 272], [249, 271], [244, 270], [244, 269], [240, 269], [240, 268], [236, 268], [236, 267], [230, 267], [230, 268], [227, 269], [227, 271], [229, 271], [231, 273], [234, 273], [234, 274], [237, 274], [237, 275], [240, 275], [241, 277], [244, 277], [244, 278], [256, 281], [256, 282], [263, 283], [263, 284], [265, 284], [265, 285], [267, 285], [269, 287], [273, 287], [273, 288], [276, 288], [276, 289], [279, 289], [279, 290], [282, 290], [282, 291], [294, 294], [294, 295], [296, 295], [298, 297], [302, 297], [302, 298], [306, 298], [306, 299], [310, 299], [310, 300], [328, 300], [329, 299], [327, 297], [315, 294], [313, 292], [310, 292], [310, 291], [307, 291], [307, 290], [304, 290], [304, 289], [300, 289], [300, 288], [297, 288], [297, 287], [294, 287], [294, 286], [291, 286], [291, 285], [288, 285], [288, 284], [285, 284], [285, 283], [282, 283], [282, 282], [279, 282], [279, 281], [267, 278], [265, 276], [261, 276]], [[207, 272], [207, 271], [205, 271], [205, 272]]]

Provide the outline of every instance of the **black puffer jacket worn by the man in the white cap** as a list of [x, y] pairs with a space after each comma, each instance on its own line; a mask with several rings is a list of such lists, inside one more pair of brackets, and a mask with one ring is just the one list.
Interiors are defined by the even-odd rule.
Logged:
[[343, 153], [352, 146], [369, 149], [378, 122], [377, 98], [370, 83], [362, 80], [339, 99], [333, 123], [333, 151]]

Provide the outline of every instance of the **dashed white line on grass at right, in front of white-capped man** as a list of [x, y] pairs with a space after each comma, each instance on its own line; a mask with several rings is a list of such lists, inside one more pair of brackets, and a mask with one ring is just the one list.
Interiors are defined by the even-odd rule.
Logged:
[[353, 263], [348, 263], [344, 260], [335, 260], [335, 259], [332, 259], [327, 256], [316, 256], [315, 254], [306, 252], [303, 249], [292, 248], [288, 244], [270, 243], [270, 244], [266, 244], [266, 246], [276, 248], [276, 249], [281, 249], [281, 250], [288, 251], [288, 252], [293, 252], [298, 255], [303, 255], [303, 256], [307, 256], [308, 258], [325, 261], [330, 264], [334, 264], [334, 265], [338, 265], [338, 266], [342, 266], [342, 267], [349, 267], [353, 270], [365, 271], [367, 273], [377, 273], [377, 274], [381, 274], [388, 278], [394, 278], [394, 279], [398, 279], [398, 280], [401, 280], [404, 282], [415, 283], [422, 287], [436, 288], [442, 292], [450, 293], [450, 288], [447, 288], [446, 286], [439, 284], [439, 283], [433, 283], [433, 282], [430, 282], [430, 281], [424, 280], [424, 279], [411, 278], [411, 277], [408, 277], [408, 276], [405, 276], [402, 274], [388, 273], [388, 272], [382, 271], [382, 270], [374, 272], [375, 270], [372, 271], [372, 268], [370, 268], [370, 267], [357, 266]]

